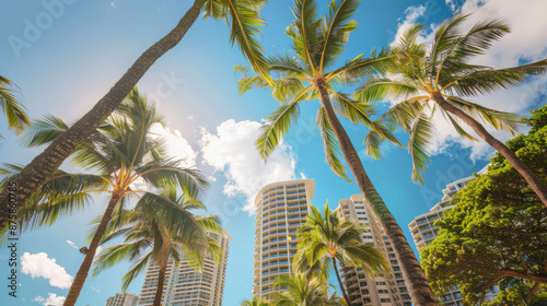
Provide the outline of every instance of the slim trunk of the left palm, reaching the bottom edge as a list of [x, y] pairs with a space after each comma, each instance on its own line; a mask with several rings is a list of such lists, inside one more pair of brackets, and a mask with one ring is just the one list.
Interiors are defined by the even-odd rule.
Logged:
[[121, 195], [118, 195], [117, 192], [112, 195], [108, 207], [106, 207], [103, 219], [101, 219], [101, 223], [98, 224], [97, 231], [93, 236], [93, 240], [91, 240], [90, 248], [85, 252], [82, 266], [80, 266], [80, 270], [78, 270], [78, 273], [75, 274], [74, 281], [70, 286], [69, 294], [67, 295], [67, 299], [65, 299], [62, 306], [73, 306], [75, 304], [75, 301], [82, 291], [83, 283], [88, 278], [88, 273], [90, 272], [93, 258], [95, 257], [95, 251], [97, 250], [98, 244], [101, 243], [104, 232], [106, 231], [106, 225], [110, 221], [112, 213], [114, 212], [116, 204], [119, 202], [119, 199], [121, 199]]

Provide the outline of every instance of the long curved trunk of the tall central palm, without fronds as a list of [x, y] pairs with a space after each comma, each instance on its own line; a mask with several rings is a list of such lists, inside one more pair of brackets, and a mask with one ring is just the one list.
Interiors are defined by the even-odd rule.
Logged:
[[340, 149], [348, 164], [353, 177], [356, 178], [359, 189], [371, 203], [374, 212], [380, 217], [382, 225], [385, 227], [386, 234], [389, 237], [395, 251], [397, 254], [398, 260], [403, 268], [403, 275], [408, 286], [408, 291], [412, 298], [415, 305], [439, 305], [437, 297], [429, 285], [428, 278], [420, 267], [420, 262], [416, 259], [416, 256], [408, 245], [408, 240], [403, 234], [399, 225], [393, 217], [392, 213], [384, 203], [384, 200], [380, 197], [374, 185], [370, 180], [364, 167], [357, 154], [351, 140], [349, 139], [346, 130], [341, 126], [338, 117], [336, 116], [333, 105], [330, 104], [330, 98], [327, 92], [327, 82], [325, 79], [321, 78], [316, 81], [316, 86], [321, 94], [321, 103], [325, 108], [327, 114], [327, 119], [333, 130], [340, 143]]

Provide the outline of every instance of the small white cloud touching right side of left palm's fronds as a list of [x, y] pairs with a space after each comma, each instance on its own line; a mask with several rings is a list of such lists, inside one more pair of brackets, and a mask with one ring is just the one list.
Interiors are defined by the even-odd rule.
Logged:
[[176, 160], [183, 160], [183, 166], [186, 167], [193, 167], [196, 165], [198, 153], [194, 151], [179, 130], [162, 127], [161, 125], [154, 125], [151, 128], [151, 132], [165, 139], [167, 146], [166, 154], [168, 156], [173, 156]]

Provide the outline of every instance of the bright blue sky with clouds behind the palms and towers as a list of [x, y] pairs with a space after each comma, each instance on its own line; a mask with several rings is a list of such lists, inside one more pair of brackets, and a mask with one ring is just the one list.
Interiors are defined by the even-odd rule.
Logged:
[[[512, 26], [513, 32], [480, 59], [482, 63], [509, 67], [546, 58], [547, 22], [542, 12], [546, 11], [547, 3], [528, 2], [527, 7], [519, 7], [511, 0], [362, 1], [356, 14], [360, 27], [351, 34], [342, 59], [389, 45], [397, 33], [415, 22], [434, 28], [455, 12], [474, 12], [470, 22], [501, 17]], [[57, 5], [48, 10], [47, 3]], [[51, 114], [73, 122], [146, 48], [176, 24], [189, 3], [174, 0], [8, 1], [0, 11], [0, 74], [21, 87], [32, 118]], [[327, 1], [318, 3], [326, 8]], [[289, 0], [275, 0], [265, 8], [268, 27], [261, 43], [267, 51], [289, 48], [290, 40], [283, 31], [292, 20], [291, 5]], [[427, 42], [430, 37], [423, 39]], [[183, 42], [139, 82], [140, 91], [155, 101], [159, 113], [166, 117], [170, 129], [162, 132], [170, 138], [173, 152], [210, 177], [211, 188], [203, 202], [210, 213], [221, 216], [233, 238], [224, 305], [238, 305], [243, 298], [251, 297], [254, 215], [248, 209], [257, 188], [274, 180], [314, 178], [316, 192], [312, 203], [318, 207], [327, 200], [337, 205], [340, 199], [359, 192], [357, 186], [336, 177], [324, 163], [321, 141], [314, 130], [317, 102], [302, 107], [299, 122], [268, 165], [259, 162], [252, 142], [260, 120], [277, 103], [265, 91], [238, 95], [233, 64], [241, 62], [244, 59], [237, 48], [229, 44], [225, 23], [199, 20]], [[545, 104], [546, 93], [545, 78], [536, 78], [477, 101], [525, 115]], [[386, 104], [380, 105], [381, 110], [385, 107]], [[349, 122], [344, 125], [408, 239], [411, 238], [407, 224], [440, 200], [444, 185], [482, 168], [491, 154], [484, 144], [459, 140], [439, 121], [439, 137], [430, 148], [434, 155], [426, 174], [426, 185], [418, 186], [410, 181], [411, 162], [405, 150], [386, 145], [384, 158], [373, 161], [363, 154], [361, 143], [366, 131]], [[16, 137], [5, 130], [4, 119], [0, 120], [0, 132], [5, 138], [0, 143], [1, 162], [26, 164], [40, 151], [22, 149]], [[69, 163], [63, 167], [72, 169]], [[105, 197], [96, 197], [84, 212], [63, 217], [55, 226], [25, 233], [20, 240], [19, 256], [28, 255], [24, 257], [26, 273], [19, 273], [19, 297], [16, 301], [9, 297], [2, 285], [0, 304], [59, 303], [68, 293], [68, 275], [75, 274], [83, 259], [77, 247], [84, 246], [85, 224], [104, 210], [106, 201]], [[39, 255], [42, 252], [45, 255]], [[2, 275], [7, 273], [7, 249], [2, 248], [0, 269], [5, 269]], [[44, 267], [53, 269], [45, 271]], [[104, 305], [107, 297], [119, 292], [119, 279], [127, 267], [121, 263], [89, 279], [77, 305]], [[138, 294], [141, 283], [142, 276], [128, 292]]]

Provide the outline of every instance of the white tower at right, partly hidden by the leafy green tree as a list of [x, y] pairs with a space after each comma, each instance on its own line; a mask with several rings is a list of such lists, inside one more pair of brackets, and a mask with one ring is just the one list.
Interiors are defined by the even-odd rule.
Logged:
[[[479, 174], [485, 173], [486, 167], [479, 172]], [[470, 180], [475, 179], [474, 176], [462, 178], [446, 185], [446, 189], [443, 190], [443, 198], [441, 202], [437, 203], [428, 213], [420, 214], [410, 224], [410, 233], [412, 234], [414, 243], [418, 250], [429, 246], [431, 242], [439, 235], [439, 226], [433, 225], [438, 219], [443, 217], [443, 213], [451, 210], [454, 205], [450, 204], [452, 197], [464, 188]], [[457, 287], [451, 289], [445, 292], [440, 299], [446, 306], [462, 306], [464, 305], [464, 297]]]

